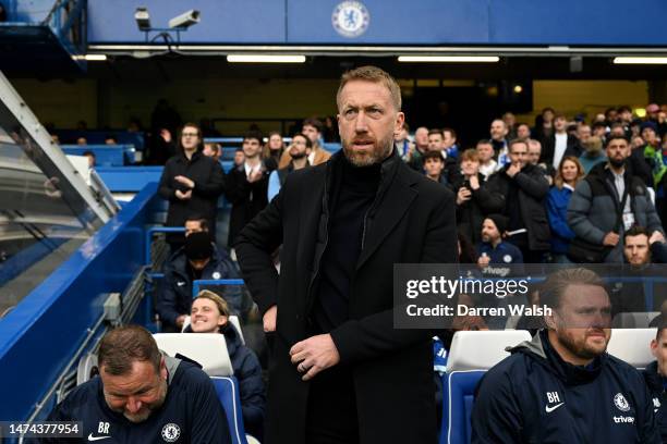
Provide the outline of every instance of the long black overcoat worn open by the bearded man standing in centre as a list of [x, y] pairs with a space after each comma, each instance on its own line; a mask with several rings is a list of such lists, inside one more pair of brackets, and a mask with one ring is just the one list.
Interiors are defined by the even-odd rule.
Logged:
[[[317, 297], [312, 288], [327, 245], [328, 190], [340, 156], [290, 174], [235, 244], [243, 278], [262, 313], [278, 307], [269, 366], [269, 444], [305, 444], [308, 383], [290, 362], [289, 350], [308, 337]], [[350, 320], [330, 332], [339, 365], [352, 369], [360, 442], [435, 443], [434, 332], [393, 328], [392, 275], [395, 263], [457, 261], [453, 194], [395, 153], [383, 162], [364, 233], [351, 284]], [[270, 252], [280, 244], [279, 279]]]

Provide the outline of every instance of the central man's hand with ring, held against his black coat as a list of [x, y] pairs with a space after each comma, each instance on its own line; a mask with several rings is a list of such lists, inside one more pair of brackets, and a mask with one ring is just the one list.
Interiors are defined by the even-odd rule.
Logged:
[[340, 362], [338, 348], [330, 334], [318, 334], [299, 342], [290, 349], [292, 363], [299, 363], [296, 370], [306, 372], [303, 381], [312, 380], [317, 373]]

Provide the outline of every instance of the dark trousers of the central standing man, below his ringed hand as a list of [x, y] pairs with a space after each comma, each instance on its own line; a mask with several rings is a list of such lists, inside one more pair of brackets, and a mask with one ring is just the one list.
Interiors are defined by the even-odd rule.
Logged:
[[332, 367], [311, 381], [305, 442], [359, 443], [356, 398], [350, 369]]

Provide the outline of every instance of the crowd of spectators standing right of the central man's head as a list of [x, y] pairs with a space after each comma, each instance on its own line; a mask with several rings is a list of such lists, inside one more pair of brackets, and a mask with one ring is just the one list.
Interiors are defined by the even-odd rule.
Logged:
[[655, 103], [645, 111], [639, 119], [620, 107], [586, 122], [547, 108], [533, 127], [504, 114], [474, 148], [460, 148], [451, 128], [401, 132], [396, 143], [414, 170], [456, 194], [459, 231], [478, 251], [496, 214], [526, 263], [622, 263], [628, 230], [664, 242], [667, 114]]

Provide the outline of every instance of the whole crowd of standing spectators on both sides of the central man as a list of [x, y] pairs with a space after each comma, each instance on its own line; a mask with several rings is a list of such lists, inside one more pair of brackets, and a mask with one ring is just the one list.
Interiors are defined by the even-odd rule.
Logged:
[[[518, 247], [525, 262], [622, 262], [624, 231], [638, 225], [650, 235], [663, 233], [667, 220], [667, 106], [651, 103], [644, 111], [640, 119], [622, 106], [585, 119], [545, 108], [533, 125], [507, 112], [489, 123], [488, 137], [476, 144], [460, 140], [456, 128], [421, 126], [411, 133], [404, 123], [395, 144], [412, 169], [454, 193], [457, 225], [472, 245], [478, 247], [482, 240], [484, 219], [497, 213], [508, 221], [502, 239]], [[169, 225], [181, 226], [189, 211], [180, 207], [193, 207], [193, 213], [205, 213], [215, 226], [217, 198], [225, 196], [232, 205], [227, 238], [231, 248], [240, 230], [276, 196], [289, 173], [329, 159], [323, 145], [338, 138], [336, 126], [335, 119], [310, 118], [293, 134], [271, 132], [264, 137], [251, 131], [227, 173], [213, 171], [210, 183], [198, 178], [199, 186], [190, 189], [174, 178], [186, 175], [171, 172], [174, 165], [184, 165], [180, 160], [184, 143], [193, 145], [183, 139], [183, 130], [196, 132], [196, 152], [216, 161], [223, 148], [204, 144], [204, 138], [220, 133], [208, 119], [182, 126], [178, 111], [160, 100], [146, 133], [144, 163], [166, 164], [163, 181], [172, 176], [171, 186], [162, 182], [161, 187], [172, 203]], [[86, 127], [85, 122], [77, 125]], [[144, 128], [132, 119], [130, 130]], [[286, 144], [292, 137], [295, 143]], [[116, 140], [109, 135], [105, 143]], [[76, 143], [86, 145], [85, 137]], [[86, 155], [93, 168], [94, 155]], [[175, 193], [179, 186], [181, 197]]]

